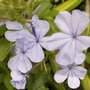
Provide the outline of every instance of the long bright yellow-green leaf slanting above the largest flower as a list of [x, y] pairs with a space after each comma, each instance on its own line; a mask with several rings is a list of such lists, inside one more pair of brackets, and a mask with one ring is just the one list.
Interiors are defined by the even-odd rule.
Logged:
[[48, 9], [45, 11], [45, 13], [43, 13], [45, 15], [44, 18], [52, 19], [60, 11], [65, 11], [65, 10], [71, 11], [74, 8], [76, 8], [82, 1], [83, 0], [68, 0], [59, 5], [56, 5], [56, 7], [52, 8], [52, 9]]

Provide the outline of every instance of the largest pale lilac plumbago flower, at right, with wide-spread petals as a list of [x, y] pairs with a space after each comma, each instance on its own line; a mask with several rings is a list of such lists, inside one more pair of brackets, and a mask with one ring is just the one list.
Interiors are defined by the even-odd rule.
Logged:
[[60, 49], [56, 55], [56, 61], [62, 65], [83, 62], [85, 55], [81, 53], [90, 46], [90, 37], [80, 36], [89, 23], [89, 17], [84, 11], [73, 10], [60, 12], [55, 18], [56, 26], [61, 30], [50, 37], [43, 39], [42, 46], [53, 51]]

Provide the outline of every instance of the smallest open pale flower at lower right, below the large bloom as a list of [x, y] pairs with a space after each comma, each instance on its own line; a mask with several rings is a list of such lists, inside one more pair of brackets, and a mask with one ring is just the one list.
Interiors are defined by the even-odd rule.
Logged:
[[54, 75], [54, 80], [57, 83], [62, 83], [68, 78], [68, 86], [72, 89], [80, 86], [80, 80], [84, 79], [87, 70], [81, 66], [70, 64], [67, 66], [61, 66], [61, 70], [57, 71]]

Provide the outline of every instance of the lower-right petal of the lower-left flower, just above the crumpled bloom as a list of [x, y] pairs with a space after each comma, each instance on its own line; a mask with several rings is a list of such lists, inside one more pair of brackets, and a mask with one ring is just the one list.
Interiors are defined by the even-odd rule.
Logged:
[[32, 63], [25, 55], [23, 55], [21, 60], [19, 60], [18, 70], [21, 71], [22, 73], [27, 73], [31, 70], [31, 68]]

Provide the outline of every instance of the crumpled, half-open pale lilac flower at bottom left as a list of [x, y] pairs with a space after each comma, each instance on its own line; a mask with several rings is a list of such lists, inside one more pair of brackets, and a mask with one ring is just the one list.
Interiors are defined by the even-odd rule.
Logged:
[[12, 71], [11, 72], [11, 84], [16, 89], [25, 89], [26, 85], [26, 76], [19, 71]]

